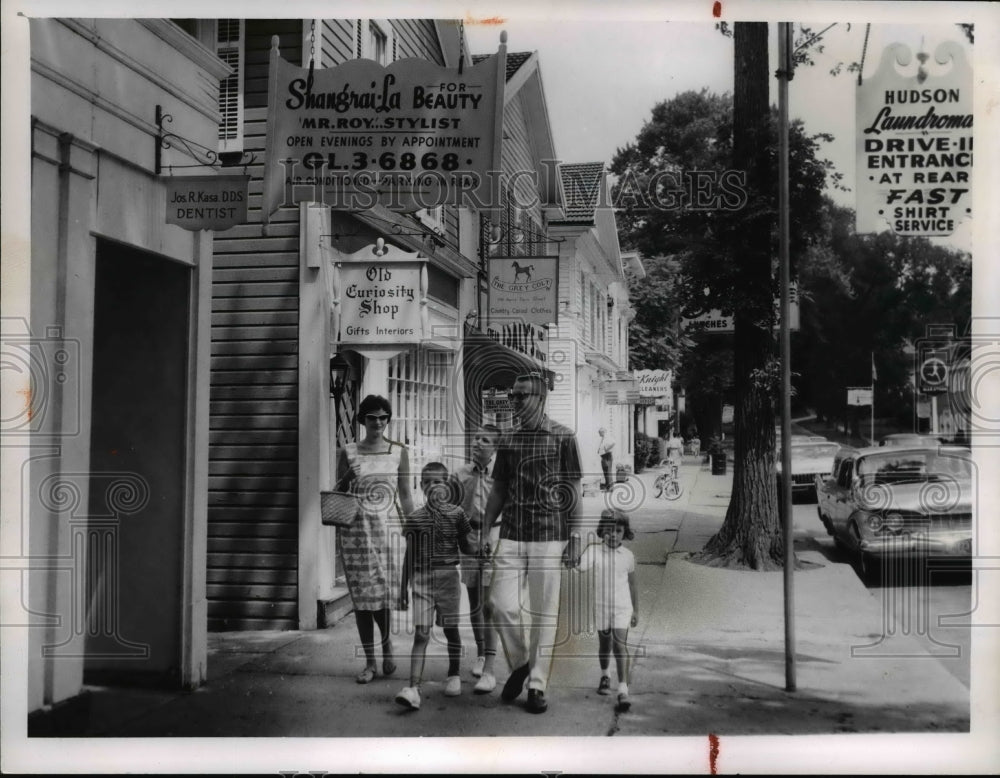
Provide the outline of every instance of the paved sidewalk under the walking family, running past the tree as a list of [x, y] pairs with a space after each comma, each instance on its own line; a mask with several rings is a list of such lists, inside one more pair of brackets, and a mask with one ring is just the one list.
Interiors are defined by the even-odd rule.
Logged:
[[[550, 710], [473, 695], [442, 694], [444, 646], [428, 652], [424, 705], [393, 703], [405, 685], [410, 633], [403, 615], [394, 644], [399, 669], [361, 686], [354, 676], [353, 616], [313, 632], [210, 633], [208, 683], [194, 692], [91, 688], [72, 705], [31, 722], [34, 735], [116, 737], [372, 737], [834, 734], [967, 732], [968, 691], [918, 637], [883, 628], [883, 603], [845, 564], [803, 548], [794, 576], [795, 692], [785, 691], [782, 573], [708, 568], [687, 561], [721, 525], [732, 470], [712, 476], [700, 459], [681, 470], [683, 496], [651, 496], [658, 471], [633, 476], [630, 491], [586, 498], [596, 517], [608, 499], [632, 500], [640, 587], [632, 710], [594, 691], [596, 636], [579, 629], [579, 605], [564, 586], [564, 642], [549, 687]], [[616, 490], [617, 491], [617, 490]], [[623, 507], [623, 506], [619, 506]], [[641, 546], [640, 544], [641, 542]], [[575, 591], [575, 590], [574, 590]], [[439, 631], [434, 633], [440, 639]], [[463, 628], [467, 647], [471, 631]], [[612, 668], [613, 670], [613, 668]], [[502, 685], [507, 668], [501, 656]], [[612, 672], [613, 675], [613, 672]]]

